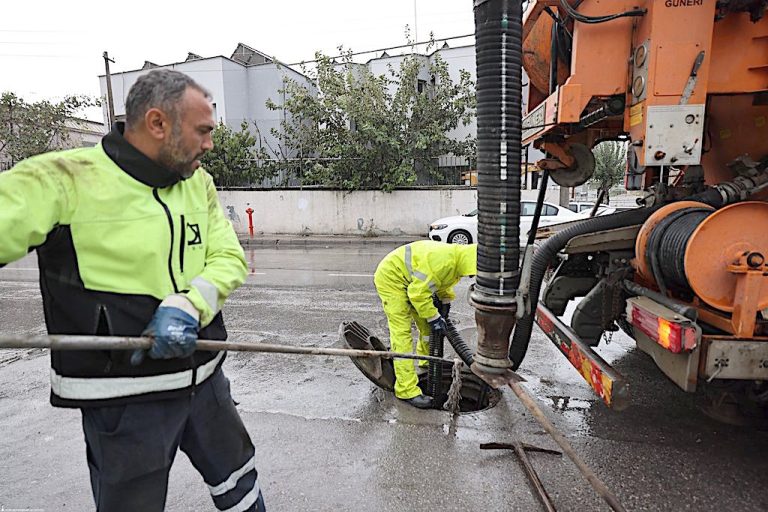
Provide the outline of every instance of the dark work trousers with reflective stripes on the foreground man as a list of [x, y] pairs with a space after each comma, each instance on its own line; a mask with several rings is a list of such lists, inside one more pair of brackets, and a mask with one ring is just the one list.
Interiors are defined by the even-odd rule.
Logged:
[[[253, 444], [221, 369], [192, 396], [83, 408], [82, 414], [98, 511], [161, 512], [181, 448], [208, 484], [216, 509], [264, 512]], [[201, 503], [197, 510], [208, 509]]]

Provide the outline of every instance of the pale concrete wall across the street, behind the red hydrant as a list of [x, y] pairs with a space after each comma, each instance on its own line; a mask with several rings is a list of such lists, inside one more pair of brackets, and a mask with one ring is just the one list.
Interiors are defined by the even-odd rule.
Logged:
[[[547, 200], [557, 201], [557, 190]], [[522, 191], [535, 200], [536, 190]], [[253, 208], [256, 233], [305, 235], [426, 236], [441, 217], [477, 208], [477, 190], [419, 189], [342, 192], [338, 190], [220, 190], [224, 214], [235, 231], [248, 232], [247, 208]]]

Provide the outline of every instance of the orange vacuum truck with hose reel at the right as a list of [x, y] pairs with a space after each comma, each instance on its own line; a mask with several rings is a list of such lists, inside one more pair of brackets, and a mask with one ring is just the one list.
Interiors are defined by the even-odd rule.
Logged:
[[[549, 178], [573, 187], [594, 172], [592, 147], [624, 141], [625, 187], [644, 192], [641, 208], [561, 226], [526, 252], [513, 367], [535, 321], [603, 401], [621, 409], [629, 386], [593, 350], [620, 328], [681, 389], [701, 391], [710, 414], [765, 421], [766, 5], [528, 3], [522, 143], [545, 152], [539, 166]], [[583, 299], [566, 323], [576, 297]]]

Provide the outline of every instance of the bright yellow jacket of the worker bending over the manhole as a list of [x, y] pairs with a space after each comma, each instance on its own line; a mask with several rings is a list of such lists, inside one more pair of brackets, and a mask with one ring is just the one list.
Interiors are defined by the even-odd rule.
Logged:
[[434, 320], [432, 294], [443, 301], [456, 298], [453, 287], [462, 277], [477, 274], [477, 244], [456, 245], [421, 240], [398, 247], [376, 268], [376, 287], [383, 292], [405, 291], [421, 318]]

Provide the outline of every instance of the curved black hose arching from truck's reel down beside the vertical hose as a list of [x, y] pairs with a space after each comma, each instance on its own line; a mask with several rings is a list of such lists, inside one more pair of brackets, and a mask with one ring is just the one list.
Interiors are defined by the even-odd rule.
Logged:
[[523, 361], [525, 353], [528, 350], [528, 342], [531, 339], [531, 330], [533, 329], [536, 305], [539, 302], [541, 284], [544, 281], [544, 274], [546, 273], [547, 268], [557, 253], [563, 250], [568, 241], [575, 236], [606, 229], [642, 224], [658, 208], [659, 207], [638, 208], [636, 210], [586, 219], [557, 233], [539, 247], [534, 253], [531, 262], [531, 284], [528, 290], [528, 295], [530, 297], [532, 311], [527, 311], [525, 316], [517, 321], [515, 332], [512, 335], [512, 342], [509, 345], [509, 358], [512, 361], [513, 370], [516, 370], [520, 366], [520, 363]]

